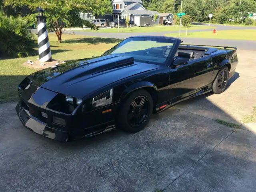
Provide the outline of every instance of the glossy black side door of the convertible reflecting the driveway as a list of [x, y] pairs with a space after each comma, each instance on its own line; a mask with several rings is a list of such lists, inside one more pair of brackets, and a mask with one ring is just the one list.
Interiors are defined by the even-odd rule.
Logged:
[[179, 66], [170, 66], [168, 100], [176, 102], [205, 88], [212, 79], [210, 55], [190, 60]]

